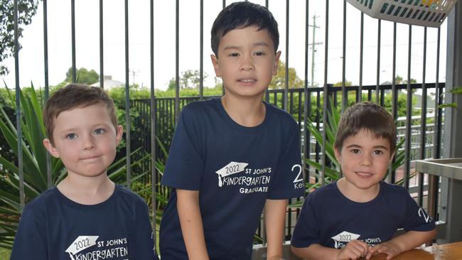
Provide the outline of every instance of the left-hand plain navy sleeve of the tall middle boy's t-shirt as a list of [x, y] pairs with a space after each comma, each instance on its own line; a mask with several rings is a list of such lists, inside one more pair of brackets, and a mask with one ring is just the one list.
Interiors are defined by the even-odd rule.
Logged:
[[200, 130], [195, 127], [195, 113], [183, 108], [175, 129], [161, 184], [171, 188], [199, 190], [204, 161], [200, 154]]

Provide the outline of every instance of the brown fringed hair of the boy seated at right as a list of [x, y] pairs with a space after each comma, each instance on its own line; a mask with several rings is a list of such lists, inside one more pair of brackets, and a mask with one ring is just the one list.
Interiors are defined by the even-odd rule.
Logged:
[[396, 149], [396, 125], [392, 115], [383, 107], [372, 102], [360, 102], [343, 112], [338, 123], [338, 132], [334, 146], [339, 151], [343, 142], [355, 136], [362, 129], [370, 132], [375, 138], [387, 139], [390, 142], [390, 154]]

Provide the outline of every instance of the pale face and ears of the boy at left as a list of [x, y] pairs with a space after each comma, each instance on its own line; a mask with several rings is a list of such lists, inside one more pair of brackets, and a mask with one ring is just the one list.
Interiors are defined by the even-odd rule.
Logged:
[[61, 158], [68, 175], [96, 177], [107, 172], [122, 139], [122, 126], [114, 129], [105, 104], [93, 104], [61, 112], [54, 121], [54, 146], [43, 145]]

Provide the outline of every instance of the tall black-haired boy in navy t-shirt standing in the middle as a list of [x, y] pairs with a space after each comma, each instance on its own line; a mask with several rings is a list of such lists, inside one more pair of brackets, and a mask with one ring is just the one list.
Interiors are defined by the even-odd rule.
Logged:
[[276, 75], [277, 23], [264, 6], [237, 2], [212, 28], [212, 63], [225, 94], [183, 108], [161, 183], [163, 260], [250, 259], [262, 210], [267, 257], [281, 259], [287, 199], [304, 194], [299, 126], [262, 102]]

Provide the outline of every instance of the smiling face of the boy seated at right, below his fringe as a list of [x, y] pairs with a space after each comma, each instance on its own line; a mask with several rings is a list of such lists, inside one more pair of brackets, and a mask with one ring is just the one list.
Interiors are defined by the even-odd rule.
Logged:
[[392, 161], [390, 141], [376, 138], [362, 129], [343, 141], [342, 150], [335, 148], [347, 185], [353, 190], [367, 190], [385, 177]]

